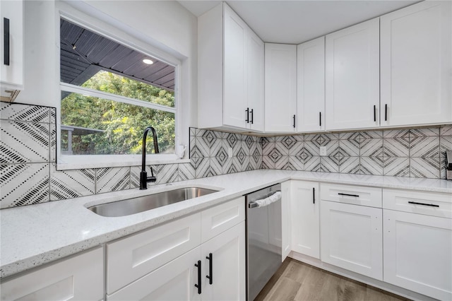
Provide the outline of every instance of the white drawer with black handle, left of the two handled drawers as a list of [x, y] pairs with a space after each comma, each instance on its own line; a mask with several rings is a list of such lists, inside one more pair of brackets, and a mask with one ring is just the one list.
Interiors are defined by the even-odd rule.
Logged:
[[381, 208], [381, 188], [321, 183], [320, 199]]

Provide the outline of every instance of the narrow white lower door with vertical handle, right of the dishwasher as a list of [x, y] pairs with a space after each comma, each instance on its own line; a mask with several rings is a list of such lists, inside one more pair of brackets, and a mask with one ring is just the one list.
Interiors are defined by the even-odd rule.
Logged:
[[320, 259], [319, 183], [292, 181], [292, 249]]

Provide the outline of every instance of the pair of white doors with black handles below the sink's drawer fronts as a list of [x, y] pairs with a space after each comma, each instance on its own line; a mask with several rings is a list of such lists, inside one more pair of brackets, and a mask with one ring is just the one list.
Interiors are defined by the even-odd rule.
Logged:
[[[244, 254], [245, 225], [242, 221], [200, 247], [107, 295], [107, 301], [245, 300]], [[198, 264], [201, 264], [199, 269]], [[201, 288], [195, 285], [201, 285]]]

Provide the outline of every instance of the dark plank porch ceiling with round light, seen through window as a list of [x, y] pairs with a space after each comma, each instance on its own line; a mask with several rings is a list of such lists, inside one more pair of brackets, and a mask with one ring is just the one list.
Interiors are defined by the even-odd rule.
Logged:
[[[100, 70], [174, 91], [174, 66], [60, 20], [61, 81], [82, 85]], [[153, 64], [144, 64], [143, 59]]]

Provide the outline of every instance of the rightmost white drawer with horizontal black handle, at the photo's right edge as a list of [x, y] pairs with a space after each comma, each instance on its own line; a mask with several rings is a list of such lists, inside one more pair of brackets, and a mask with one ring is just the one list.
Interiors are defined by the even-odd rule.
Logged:
[[452, 218], [452, 195], [400, 189], [383, 189], [383, 208]]

